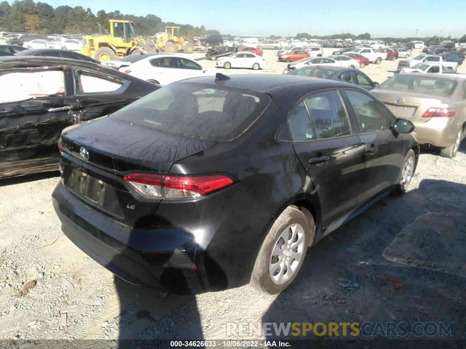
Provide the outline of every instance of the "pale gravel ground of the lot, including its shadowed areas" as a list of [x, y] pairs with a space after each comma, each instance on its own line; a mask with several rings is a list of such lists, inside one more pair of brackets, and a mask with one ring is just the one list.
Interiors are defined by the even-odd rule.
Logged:
[[[382, 81], [396, 64], [363, 70]], [[272, 61], [266, 72], [283, 67]], [[278, 296], [245, 286], [180, 297], [114, 280], [62, 234], [50, 201], [57, 173], [2, 180], [0, 339], [225, 339], [226, 322], [260, 321], [445, 321], [464, 336], [465, 168], [466, 141], [455, 159], [421, 154], [407, 195], [310, 248]]]

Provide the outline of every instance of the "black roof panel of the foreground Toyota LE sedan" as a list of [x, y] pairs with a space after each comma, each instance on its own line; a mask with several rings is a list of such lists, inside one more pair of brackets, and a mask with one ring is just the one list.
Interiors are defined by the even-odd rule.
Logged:
[[[348, 69], [348, 68], [345, 68]], [[352, 70], [352, 69], [349, 69]], [[227, 87], [236, 87], [247, 89], [257, 92], [270, 92], [272, 90], [277, 91], [288, 87], [312, 87], [318, 86], [319, 88], [335, 87], [335, 86], [347, 86], [343, 82], [322, 80], [309, 78], [307, 76], [296, 76], [288, 74], [231, 74], [227, 75], [229, 79], [215, 82], [215, 76], [202, 76], [199, 78], [191, 78], [181, 83], [195, 82], [208, 85], [221, 85]], [[176, 82], [175, 82], [176, 83]]]

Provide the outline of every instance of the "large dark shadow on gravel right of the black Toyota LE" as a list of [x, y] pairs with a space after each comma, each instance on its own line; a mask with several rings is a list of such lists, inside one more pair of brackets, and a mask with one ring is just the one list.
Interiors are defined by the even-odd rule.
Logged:
[[[421, 181], [403, 197], [379, 202], [308, 249], [298, 277], [262, 322], [407, 322], [408, 330], [414, 322], [454, 322], [454, 339], [466, 339], [465, 207], [466, 185], [439, 180]], [[385, 275], [402, 286], [383, 282]], [[271, 332], [270, 340], [344, 339], [340, 325], [339, 337], [329, 337], [328, 329], [324, 336], [313, 329], [305, 337], [291, 336], [293, 329], [288, 336]], [[348, 327], [346, 338], [354, 340], [350, 332]], [[358, 348], [369, 344], [355, 342]]]

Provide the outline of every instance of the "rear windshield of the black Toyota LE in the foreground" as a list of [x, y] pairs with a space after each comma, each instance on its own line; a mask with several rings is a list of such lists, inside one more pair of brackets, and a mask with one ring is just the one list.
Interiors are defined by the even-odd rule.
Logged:
[[232, 87], [171, 83], [111, 117], [168, 134], [231, 141], [267, 107], [268, 94]]

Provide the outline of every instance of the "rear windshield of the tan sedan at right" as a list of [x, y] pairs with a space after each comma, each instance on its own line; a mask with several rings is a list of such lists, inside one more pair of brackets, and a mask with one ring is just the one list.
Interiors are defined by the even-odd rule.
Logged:
[[433, 94], [436, 96], [449, 96], [456, 87], [456, 81], [454, 80], [422, 75], [396, 74], [376, 88]]

